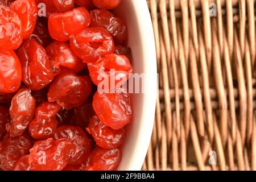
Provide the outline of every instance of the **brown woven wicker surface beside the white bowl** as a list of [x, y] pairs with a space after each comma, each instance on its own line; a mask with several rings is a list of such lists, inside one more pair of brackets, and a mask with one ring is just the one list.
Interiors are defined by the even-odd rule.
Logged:
[[148, 0], [159, 94], [143, 170], [256, 169], [254, 3]]

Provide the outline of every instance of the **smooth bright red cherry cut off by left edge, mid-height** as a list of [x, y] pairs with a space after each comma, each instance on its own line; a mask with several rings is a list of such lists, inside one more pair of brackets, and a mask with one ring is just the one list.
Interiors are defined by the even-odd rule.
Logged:
[[0, 48], [0, 92], [16, 92], [20, 87], [21, 80], [22, 69], [15, 52]]

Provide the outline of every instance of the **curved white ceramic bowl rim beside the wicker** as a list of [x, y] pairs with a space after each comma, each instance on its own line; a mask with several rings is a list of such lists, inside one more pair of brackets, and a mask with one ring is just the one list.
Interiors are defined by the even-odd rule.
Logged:
[[154, 31], [146, 0], [122, 0], [114, 10], [129, 31], [128, 46], [133, 51], [134, 73], [144, 73], [143, 94], [132, 94], [133, 122], [127, 126], [123, 157], [118, 170], [141, 170], [154, 125], [157, 92]]

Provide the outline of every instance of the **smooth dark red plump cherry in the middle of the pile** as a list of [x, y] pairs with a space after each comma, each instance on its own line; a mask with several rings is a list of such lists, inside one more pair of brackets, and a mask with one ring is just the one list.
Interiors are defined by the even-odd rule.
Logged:
[[72, 109], [82, 105], [91, 90], [91, 81], [88, 76], [77, 76], [71, 71], [64, 70], [52, 82], [48, 101], [57, 102], [67, 110]]

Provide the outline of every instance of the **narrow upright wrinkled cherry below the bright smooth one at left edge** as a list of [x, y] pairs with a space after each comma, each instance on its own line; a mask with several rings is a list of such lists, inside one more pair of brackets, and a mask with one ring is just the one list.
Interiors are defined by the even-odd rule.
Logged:
[[6, 124], [6, 129], [11, 137], [21, 135], [34, 118], [35, 99], [31, 96], [31, 90], [19, 89], [13, 97], [10, 107], [11, 122]]

